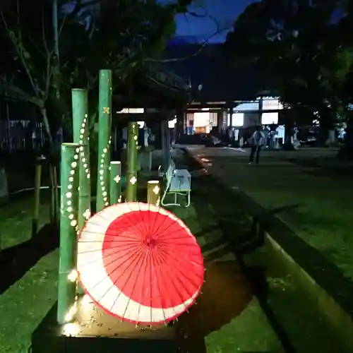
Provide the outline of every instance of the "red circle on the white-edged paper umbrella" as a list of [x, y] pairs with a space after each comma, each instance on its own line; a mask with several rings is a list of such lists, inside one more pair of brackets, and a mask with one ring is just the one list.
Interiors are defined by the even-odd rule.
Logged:
[[170, 213], [136, 210], [117, 217], [105, 232], [102, 260], [119, 291], [151, 308], [181, 305], [203, 284], [201, 249]]

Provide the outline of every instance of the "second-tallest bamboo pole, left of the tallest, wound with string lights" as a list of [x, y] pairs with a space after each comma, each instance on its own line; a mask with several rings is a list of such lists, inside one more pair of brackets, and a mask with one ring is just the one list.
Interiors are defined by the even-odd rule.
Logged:
[[90, 217], [90, 151], [88, 148], [88, 91], [73, 89], [73, 142], [80, 144], [78, 179], [78, 229]]

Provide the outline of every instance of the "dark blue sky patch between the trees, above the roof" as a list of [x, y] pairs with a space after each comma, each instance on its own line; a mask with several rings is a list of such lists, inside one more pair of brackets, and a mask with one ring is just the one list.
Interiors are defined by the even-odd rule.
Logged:
[[[208, 13], [217, 19], [217, 23], [223, 28], [229, 28], [234, 20], [244, 11], [246, 6], [254, 0], [201, 0], [196, 1], [201, 6], [191, 6], [190, 10], [200, 14]], [[205, 10], [203, 10], [203, 8]], [[190, 15], [177, 16], [177, 35], [196, 36], [199, 39], [208, 39], [216, 31], [216, 25], [210, 18], [195, 18]], [[225, 40], [227, 30], [215, 35], [210, 42], [222, 42]]]

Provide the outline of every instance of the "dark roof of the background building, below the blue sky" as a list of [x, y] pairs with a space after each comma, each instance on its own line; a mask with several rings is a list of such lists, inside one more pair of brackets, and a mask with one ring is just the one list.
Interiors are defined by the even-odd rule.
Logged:
[[188, 80], [193, 90], [202, 85], [202, 101], [251, 100], [267, 89], [263, 74], [253, 65], [235, 68], [227, 60], [222, 44], [169, 44], [164, 63], [170, 71]]

